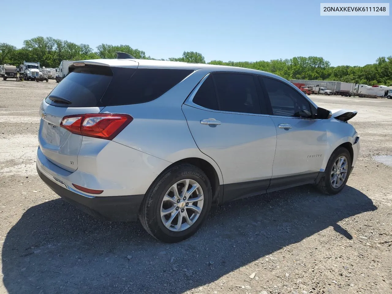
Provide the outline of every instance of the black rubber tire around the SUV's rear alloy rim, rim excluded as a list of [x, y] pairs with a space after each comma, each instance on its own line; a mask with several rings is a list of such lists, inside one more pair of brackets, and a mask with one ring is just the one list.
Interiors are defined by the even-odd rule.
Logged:
[[[191, 179], [199, 183], [204, 194], [203, 209], [201, 210], [200, 216], [191, 227], [181, 232], [173, 232], [167, 229], [162, 223], [160, 216], [161, 203], [163, 196], [165, 196], [169, 188], [174, 183], [182, 179]], [[167, 171], [163, 178], [158, 181], [157, 185], [153, 188], [149, 198], [150, 199], [146, 202], [148, 205], [147, 217], [149, 220], [148, 226], [151, 229], [153, 236], [159, 240], [169, 243], [178, 242], [192, 236], [206, 220], [207, 214], [211, 209], [211, 184], [204, 172], [198, 167], [192, 165], [180, 165]]]

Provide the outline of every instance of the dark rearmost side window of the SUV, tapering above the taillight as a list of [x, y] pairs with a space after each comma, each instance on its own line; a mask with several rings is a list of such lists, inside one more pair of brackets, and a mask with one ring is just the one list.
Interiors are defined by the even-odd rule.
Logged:
[[[146, 69], [134, 73], [112, 68], [113, 80], [99, 106], [137, 104], [152, 101], [181, 82], [191, 69]], [[128, 69], [129, 70], [129, 69]]]

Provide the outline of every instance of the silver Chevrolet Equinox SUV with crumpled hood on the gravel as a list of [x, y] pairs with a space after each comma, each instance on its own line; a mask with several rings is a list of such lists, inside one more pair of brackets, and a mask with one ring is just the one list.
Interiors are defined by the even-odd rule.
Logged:
[[40, 107], [38, 174], [165, 242], [194, 234], [212, 204], [309, 183], [338, 193], [358, 156], [355, 111], [317, 107], [274, 74], [136, 59], [69, 71]]

